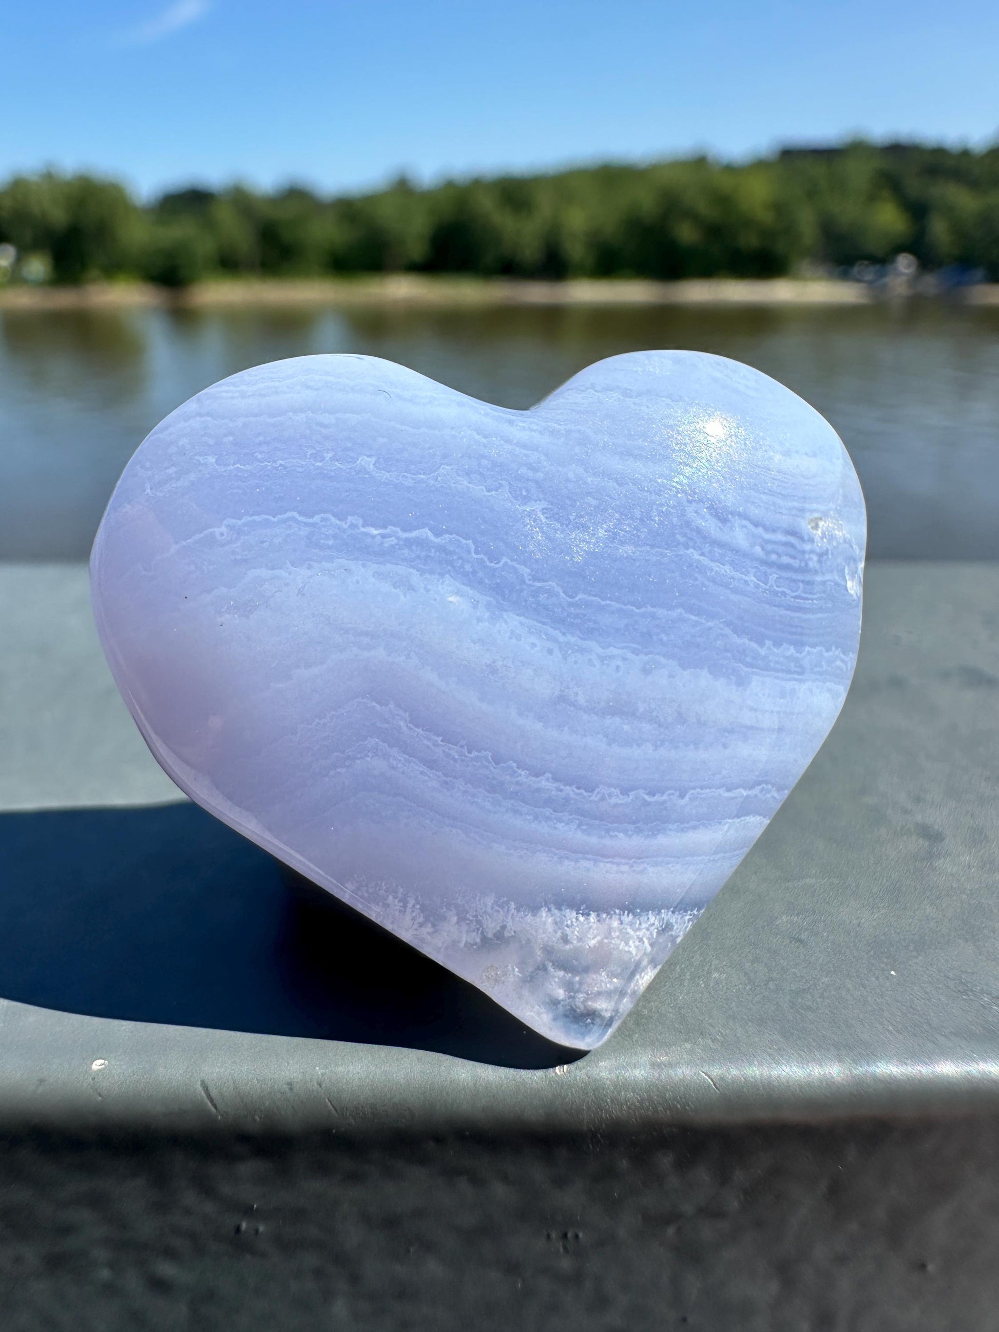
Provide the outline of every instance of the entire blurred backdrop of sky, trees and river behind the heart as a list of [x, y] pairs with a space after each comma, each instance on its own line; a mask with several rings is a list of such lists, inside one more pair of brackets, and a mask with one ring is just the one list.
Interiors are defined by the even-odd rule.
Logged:
[[635, 348], [790, 385], [875, 557], [999, 557], [999, 11], [40, 0], [4, 16], [0, 559], [77, 561], [221, 376], [527, 406]]

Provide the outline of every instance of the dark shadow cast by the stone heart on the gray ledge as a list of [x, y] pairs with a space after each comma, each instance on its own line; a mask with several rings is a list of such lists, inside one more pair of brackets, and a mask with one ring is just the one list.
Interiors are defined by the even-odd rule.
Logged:
[[0, 864], [7, 999], [507, 1068], [579, 1056], [196, 805], [3, 814]]

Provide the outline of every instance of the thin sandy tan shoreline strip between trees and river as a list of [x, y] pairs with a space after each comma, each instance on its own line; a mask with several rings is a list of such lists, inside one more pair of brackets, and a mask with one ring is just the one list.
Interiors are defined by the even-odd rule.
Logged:
[[[237, 278], [169, 290], [143, 282], [85, 286], [0, 288], [0, 310], [81, 310], [166, 306], [220, 309], [241, 305], [876, 305], [891, 292], [834, 278], [687, 278], [654, 282], [579, 278], [428, 277], [392, 273], [349, 278]], [[906, 292], [894, 294], [906, 296]], [[999, 305], [999, 284], [952, 293], [967, 305]]]

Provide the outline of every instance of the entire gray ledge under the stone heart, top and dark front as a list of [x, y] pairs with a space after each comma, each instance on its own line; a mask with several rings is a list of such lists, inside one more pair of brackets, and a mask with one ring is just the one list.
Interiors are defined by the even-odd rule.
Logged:
[[574, 1063], [161, 803], [81, 569], [0, 635], [4, 1332], [992, 1332], [999, 566], [870, 570], [829, 743]]

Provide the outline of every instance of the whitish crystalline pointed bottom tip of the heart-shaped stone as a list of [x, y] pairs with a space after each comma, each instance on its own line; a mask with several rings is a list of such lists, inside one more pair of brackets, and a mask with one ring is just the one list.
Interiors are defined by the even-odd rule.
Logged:
[[550, 1040], [599, 1046], [701, 908], [587, 911], [480, 898], [429, 914], [413, 898], [345, 884], [370, 919], [484, 990]]

